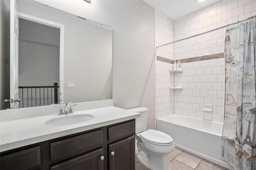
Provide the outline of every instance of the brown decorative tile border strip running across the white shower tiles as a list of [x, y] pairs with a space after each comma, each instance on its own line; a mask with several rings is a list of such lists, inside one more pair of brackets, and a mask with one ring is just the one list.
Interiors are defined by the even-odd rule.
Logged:
[[[224, 58], [224, 53], [218, 53], [218, 54], [212, 54], [212, 55], [203, 55], [203, 56], [199, 56], [199, 57], [180, 59], [180, 62], [181, 63], [189, 63], [189, 62], [194, 62], [194, 61], [203, 61], [203, 60], [217, 59], [217, 58]], [[166, 62], [166, 63], [171, 63], [171, 64], [174, 63], [174, 60], [172, 60], [172, 59], [167, 59], [167, 58], [159, 57], [159, 56], [156, 56], [156, 60]]]

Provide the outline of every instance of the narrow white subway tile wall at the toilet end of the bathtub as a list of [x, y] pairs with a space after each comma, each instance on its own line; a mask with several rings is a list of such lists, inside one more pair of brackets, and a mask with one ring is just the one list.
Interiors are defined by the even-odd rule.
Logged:
[[[155, 47], [174, 41], [173, 21], [167, 16], [155, 10]], [[180, 23], [184, 26], [185, 22]], [[182, 30], [180, 30], [182, 32]], [[166, 45], [158, 48], [156, 55], [167, 59], [174, 59], [174, 45]], [[156, 57], [155, 57], [156, 58]], [[155, 128], [156, 119], [174, 113], [174, 90], [169, 90], [174, 85], [174, 73], [170, 73], [173, 64], [156, 60], [155, 77]]]

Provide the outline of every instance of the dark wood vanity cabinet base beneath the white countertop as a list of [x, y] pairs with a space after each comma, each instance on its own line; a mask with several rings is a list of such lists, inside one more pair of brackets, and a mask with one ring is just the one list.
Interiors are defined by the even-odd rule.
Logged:
[[134, 135], [133, 119], [23, 146], [1, 152], [0, 169], [134, 170]]

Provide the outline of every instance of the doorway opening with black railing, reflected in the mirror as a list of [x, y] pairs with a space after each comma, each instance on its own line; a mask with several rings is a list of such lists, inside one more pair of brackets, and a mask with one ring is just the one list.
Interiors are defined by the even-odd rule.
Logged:
[[19, 108], [56, 103], [60, 100], [60, 28], [19, 18], [18, 42]]

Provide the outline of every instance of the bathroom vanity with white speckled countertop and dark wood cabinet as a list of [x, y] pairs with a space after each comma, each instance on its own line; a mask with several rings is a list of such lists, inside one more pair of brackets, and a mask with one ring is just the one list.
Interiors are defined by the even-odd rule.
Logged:
[[138, 113], [104, 107], [79, 114], [94, 118], [64, 126], [45, 125], [57, 114], [1, 122], [1, 169], [135, 169]]

